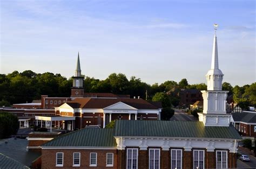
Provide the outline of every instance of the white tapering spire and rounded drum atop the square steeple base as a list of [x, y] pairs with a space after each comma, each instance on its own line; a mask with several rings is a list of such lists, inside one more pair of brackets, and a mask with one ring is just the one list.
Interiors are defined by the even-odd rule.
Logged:
[[206, 74], [207, 90], [222, 90], [223, 76], [224, 74], [219, 69], [217, 36], [215, 32], [212, 48], [212, 65]]

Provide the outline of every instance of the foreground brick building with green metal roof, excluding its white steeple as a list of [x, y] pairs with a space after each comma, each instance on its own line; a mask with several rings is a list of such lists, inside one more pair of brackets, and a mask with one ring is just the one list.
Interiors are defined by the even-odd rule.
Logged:
[[230, 126], [186, 121], [116, 121], [42, 145], [42, 168], [233, 168], [240, 135]]

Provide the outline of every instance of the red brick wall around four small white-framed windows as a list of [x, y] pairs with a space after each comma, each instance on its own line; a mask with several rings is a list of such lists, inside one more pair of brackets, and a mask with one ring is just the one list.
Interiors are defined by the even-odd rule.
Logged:
[[[80, 168], [106, 168], [106, 153], [113, 153], [113, 167], [117, 168], [117, 150], [42, 150], [42, 168], [56, 167], [56, 153], [64, 153], [64, 168], [73, 166], [73, 152], [80, 152]], [[90, 167], [90, 153], [97, 153], [97, 167]]]

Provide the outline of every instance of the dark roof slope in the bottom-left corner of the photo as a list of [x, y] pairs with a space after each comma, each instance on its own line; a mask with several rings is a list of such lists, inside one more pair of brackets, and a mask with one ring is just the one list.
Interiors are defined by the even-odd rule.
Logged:
[[19, 163], [15, 159], [12, 159], [0, 153], [0, 168], [29, 168], [29, 167]]

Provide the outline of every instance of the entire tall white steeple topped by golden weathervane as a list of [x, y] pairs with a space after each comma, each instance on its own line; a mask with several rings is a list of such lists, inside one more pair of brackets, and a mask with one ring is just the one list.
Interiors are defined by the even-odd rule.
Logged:
[[205, 126], [229, 126], [231, 115], [226, 113], [226, 98], [228, 91], [222, 90], [224, 74], [219, 69], [218, 47], [217, 47], [217, 24], [213, 38], [212, 64], [206, 74], [207, 90], [201, 91], [204, 98], [203, 113], [198, 113], [199, 121]]

